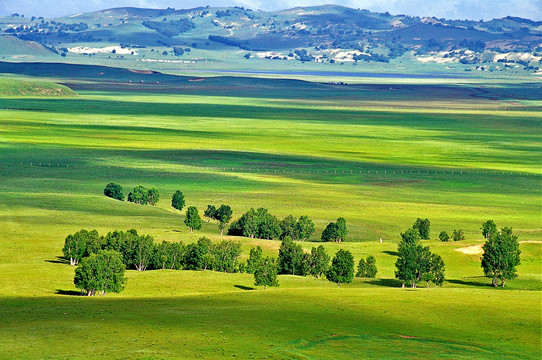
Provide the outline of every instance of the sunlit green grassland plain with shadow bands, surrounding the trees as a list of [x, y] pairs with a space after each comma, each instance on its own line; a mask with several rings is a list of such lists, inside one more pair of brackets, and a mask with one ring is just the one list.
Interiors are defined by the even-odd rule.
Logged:
[[[493, 84], [488, 95], [484, 84], [136, 79], [62, 78], [78, 96], [0, 98], [0, 358], [540, 358], [536, 84]], [[125, 193], [156, 187], [161, 200], [114, 201], [103, 196], [110, 181]], [[231, 205], [234, 218], [250, 207], [309, 215], [317, 234], [306, 251], [342, 216], [349, 241], [325, 247], [356, 263], [374, 255], [377, 278], [338, 289], [280, 276], [263, 290], [248, 274], [128, 271], [120, 294], [73, 296], [74, 268], [59, 256], [81, 228], [221, 239], [212, 222], [188, 232], [170, 207], [177, 189], [200, 211]], [[446, 263], [442, 288], [394, 280], [399, 233], [417, 217], [431, 220], [425, 243]], [[487, 219], [522, 241], [519, 277], [504, 289], [482, 277], [480, 254], [457, 251], [483, 243]], [[466, 240], [437, 240], [453, 229]], [[243, 258], [279, 247], [236, 240]]]

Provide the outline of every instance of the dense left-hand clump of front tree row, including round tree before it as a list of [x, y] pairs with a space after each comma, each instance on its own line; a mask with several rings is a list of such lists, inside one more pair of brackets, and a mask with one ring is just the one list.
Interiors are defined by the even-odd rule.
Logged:
[[66, 237], [62, 251], [71, 265], [78, 265], [75, 285], [87, 295], [97, 292], [103, 295], [123, 289], [126, 268], [239, 271], [237, 259], [241, 255], [241, 244], [212, 243], [207, 238], [186, 246], [168, 241], [158, 244], [152, 236], [139, 235], [134, 229], [115, 230], [106, 236], [99, 236], [96, 230], [83, 229]]

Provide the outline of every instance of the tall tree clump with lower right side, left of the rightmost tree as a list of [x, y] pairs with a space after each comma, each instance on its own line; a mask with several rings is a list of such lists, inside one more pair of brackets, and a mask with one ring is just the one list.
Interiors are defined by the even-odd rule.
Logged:
[[444, 283], [444, 261], [440, 255], [432, 254], [429, 247], [420, 243], [420, 233], [417, 228], [411, 228], [401, 234], [397, 247], [395, 276], [411, 287], [417, 287], [420, 281], [429, 282], [435, 286]]

